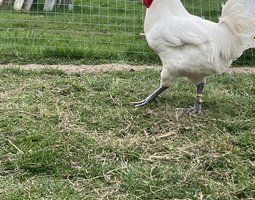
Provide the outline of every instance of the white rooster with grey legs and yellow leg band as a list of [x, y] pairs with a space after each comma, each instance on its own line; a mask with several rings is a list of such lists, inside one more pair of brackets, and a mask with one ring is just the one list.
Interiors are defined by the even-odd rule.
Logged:
[[197, 88], [192, 113], [201, 112], [206, 77], [226, 71], [249, 48], [255, 47], [255, 0], [228, 0], [219, 23], [189, 14], [180, 0], [144, 0], [144, 32], [159, 55], [163, 69], [160, 87], [139, 107], [154, 101], [179, 77]]

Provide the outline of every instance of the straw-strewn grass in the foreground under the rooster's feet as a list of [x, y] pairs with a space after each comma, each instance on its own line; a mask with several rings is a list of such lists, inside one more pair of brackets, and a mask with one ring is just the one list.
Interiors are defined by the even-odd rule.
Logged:
[[208, 79], [203, 112], [158, 72], [0, 70], [1, 199], [254, 199], [255, 75]]

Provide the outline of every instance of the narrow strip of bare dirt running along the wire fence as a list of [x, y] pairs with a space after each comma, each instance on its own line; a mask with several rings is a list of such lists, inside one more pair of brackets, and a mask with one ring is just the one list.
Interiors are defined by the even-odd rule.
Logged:
[[[0, 68], [4, 67], [18, 67], [21, 69], [43, 69], [43, 68], [54, 68], [61, 69], [70, 73], [101, 73], [114, 70], [127, 70], [127, 71], [137, 71], [143, 69], [155, 69], [160, 70], [161, 66], [146, 66], [146, 65], [128, 65], [128, 64], [102, 64], [102, 65], [39, 65], [39, 64], [29, 64], [29, 65], [15, 65], [6, 64], [0, 65]], [[229, 73], [255, 73], [255, 67], [235, 67], [229, 68]]]

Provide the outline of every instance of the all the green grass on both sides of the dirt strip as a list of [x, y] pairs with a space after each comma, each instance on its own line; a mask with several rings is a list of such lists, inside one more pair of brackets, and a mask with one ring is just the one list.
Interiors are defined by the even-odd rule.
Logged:
[[[160, 64], [142, 0], [79, 0], [43, 12], [0, 7], [0, 63]], [[183, 0], [217, 21], [221, 1]], [[254, 65], [254, 50], [235, 65]], [[255, 74], [211, 76], [203, 112], [184, 79], [134, 108], [159, 72], [0, 69], [0, 196], [26, 199], [255, 199]]]

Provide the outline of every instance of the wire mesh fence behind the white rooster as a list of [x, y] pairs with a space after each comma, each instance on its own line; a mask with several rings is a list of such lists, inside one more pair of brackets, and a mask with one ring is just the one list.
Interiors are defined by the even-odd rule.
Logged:
[[[183, 0], [217, 21], [221, 0]], [[0, 62], [160, 63], [143, 32], [142, 0], [0, 0]], [[254, 65], [254, 50], [236, 62]]]

